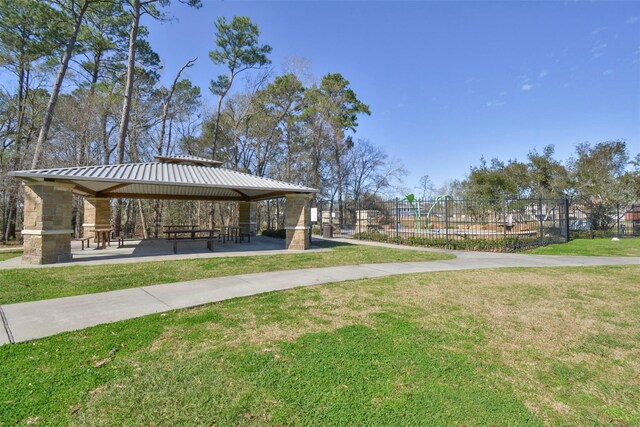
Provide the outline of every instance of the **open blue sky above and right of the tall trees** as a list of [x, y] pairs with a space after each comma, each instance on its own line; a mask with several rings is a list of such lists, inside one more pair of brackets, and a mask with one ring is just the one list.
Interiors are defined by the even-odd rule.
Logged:
[[340, 72], [372, 115], [356, 137], [404, 162], [417, 184], [462, 178], [481, 156], [525, 160], [554, 144], [623, 138], [640, 152], [640, 2], [218, 2], [143, 23], [165, 80], [189, 77], [213, 104], [209, 60], [218, 16], [249, 16], [276, 72], [306, 58], [316, 78]]

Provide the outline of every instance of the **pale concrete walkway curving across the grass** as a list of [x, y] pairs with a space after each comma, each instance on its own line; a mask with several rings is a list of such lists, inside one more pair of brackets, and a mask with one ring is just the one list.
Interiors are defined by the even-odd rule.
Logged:
[[230, 298], [345, 280], [483, 268], [640, 265], [640, 258], [453, 253], [457, 258], [446, 261], [362, 264], [243, 274], [7, 304], [0, 306], [0, 344], [28, 341]]

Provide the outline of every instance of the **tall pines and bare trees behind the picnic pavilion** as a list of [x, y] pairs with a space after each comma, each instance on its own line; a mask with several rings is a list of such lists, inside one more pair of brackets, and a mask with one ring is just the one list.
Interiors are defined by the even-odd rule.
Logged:
[[[176, 3], [201, 6], [200, 0]], [[144, 23], [169, 19], [169, 5], [0, 0], [4, 240], [15, 238], [21, 217], [20, 185], [7, 177], [12, 170], [191, 154], [318, 188], [318, 197], [339, 206], [347, 194], [381, 192], [402, 177], [402, 166], [389, 162], [379, 147], [354, 139], [358, 118], [371, 112], [349, 81], [339, 73], [316, 81], [297, 66], [276, 75], [271, 47], [247, 17], [220, 18], [215, 34], [202, 35], [215, 41], [209, 60], [221, 70], [207, 90], [186, 77], [201, 61], [188, 52], [182, 67], [163, 70]], [[161, 84], [163, 74], [171, 84]], [[79, 228], [81, 200], [75, 203]], [[118, 230], [142, 225], [145, 233], [157, 232], [163, 217], [187, 208], [195, 209], [125, 200], [114, 210], [114, 223]], [[195, 220], [224, 222], [229, 212], [220, 203], [198, 203]]]

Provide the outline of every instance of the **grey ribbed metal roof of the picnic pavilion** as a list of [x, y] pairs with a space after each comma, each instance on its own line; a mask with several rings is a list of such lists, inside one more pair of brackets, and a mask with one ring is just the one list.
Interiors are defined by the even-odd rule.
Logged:
[[23, 181], [75, 185], [84, 196], [186, 200], [262, 200], [289, 193], [315, 193], [301, 185], [220, 167], [193, 156], [159, 156], [149, 163], [81, 166], [10, 172]]

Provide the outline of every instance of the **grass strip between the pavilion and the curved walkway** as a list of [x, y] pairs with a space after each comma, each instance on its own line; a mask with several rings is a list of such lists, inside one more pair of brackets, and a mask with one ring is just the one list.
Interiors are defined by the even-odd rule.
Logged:
[[317, 242], [330, 251], [69, 267], [0, 270], [0, 304], [263, 271], [454, 258], [440, 252]]

